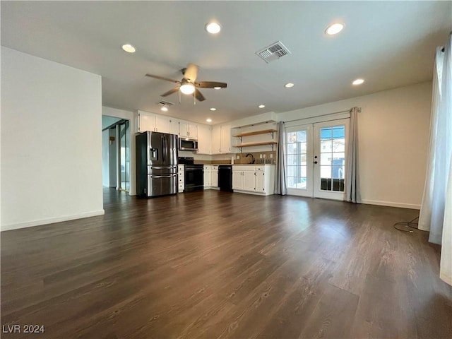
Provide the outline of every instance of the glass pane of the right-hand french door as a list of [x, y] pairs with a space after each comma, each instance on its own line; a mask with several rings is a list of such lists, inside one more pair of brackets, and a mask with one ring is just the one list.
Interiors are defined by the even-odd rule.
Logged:
[[344, 191], [345, 126], [320, 129], [320, 188]]

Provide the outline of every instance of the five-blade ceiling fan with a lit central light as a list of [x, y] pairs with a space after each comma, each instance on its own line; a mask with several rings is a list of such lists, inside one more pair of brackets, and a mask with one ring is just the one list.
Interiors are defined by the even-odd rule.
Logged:
[[172, 90], [169, 90], [166, 93], [160, 95], [161, 97], [167, 97], [168, 95], [179, 91], [179, 102], [181, 92], [187, 95], [194, 95], [196, 103], [196, 100], [206, 100], [206, 98], [201, 93], [201, 91], [198, 90], [198, 88], [215, 88], [215, 90], [219, 90], [220, 88], [227, 87], [227, 83], [219, 83], [217, 81], [196, 81], [196, 76], [198, 76], [198, 69], [199, 67], [195, 64], [188, 64], [185, 69], [181, 70], [182, 74], [184, 75], [184, 78], [182, 78], [181, 81], [165, 78], [164, 76], [155, 76], [154, 74], [146, 74], [146, 76], [179, 84], [177, 87], [172, 88]]

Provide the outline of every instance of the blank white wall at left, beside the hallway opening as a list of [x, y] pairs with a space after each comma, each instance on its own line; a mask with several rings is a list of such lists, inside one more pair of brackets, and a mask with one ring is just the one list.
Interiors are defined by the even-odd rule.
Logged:
[[1, 47], [1, 230], [104, 213], [101, 78]]

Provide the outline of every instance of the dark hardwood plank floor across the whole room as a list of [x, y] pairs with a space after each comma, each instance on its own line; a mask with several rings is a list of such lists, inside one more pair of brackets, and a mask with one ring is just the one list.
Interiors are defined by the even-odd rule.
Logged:
[[107, 189], [103, 216], [1, 233], [1, 338], [450, 339], [439, 246], [393, 228], [417, 215]]

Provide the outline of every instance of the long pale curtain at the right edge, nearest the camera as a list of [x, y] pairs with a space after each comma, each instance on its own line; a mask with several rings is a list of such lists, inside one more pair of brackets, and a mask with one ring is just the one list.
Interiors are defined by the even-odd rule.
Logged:
[[419, 228], [441, 244], [440, 277], [452, 285], [452, 59], [451, 37], [436, 49], [427, 177]]

